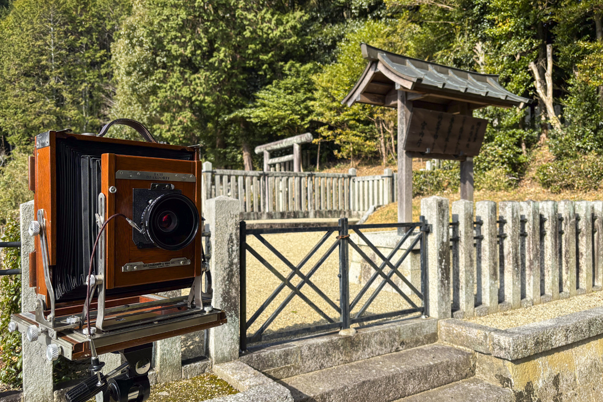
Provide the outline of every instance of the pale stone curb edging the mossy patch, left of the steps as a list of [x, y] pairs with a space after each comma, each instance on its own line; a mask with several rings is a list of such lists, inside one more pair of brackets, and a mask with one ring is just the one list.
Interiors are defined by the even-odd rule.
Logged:
[[293, 402], [291, 392], [240, 360], [213, 366], [213, 374], [222, 378], [239, 394], [214, 398], [212, 402]]

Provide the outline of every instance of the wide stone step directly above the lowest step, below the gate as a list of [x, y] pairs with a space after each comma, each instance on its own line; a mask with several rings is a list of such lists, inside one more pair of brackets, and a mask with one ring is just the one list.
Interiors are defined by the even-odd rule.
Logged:
[[295, 402], [390, 402], [475, 372], [473, 354], [440, 344], [285, 378]]

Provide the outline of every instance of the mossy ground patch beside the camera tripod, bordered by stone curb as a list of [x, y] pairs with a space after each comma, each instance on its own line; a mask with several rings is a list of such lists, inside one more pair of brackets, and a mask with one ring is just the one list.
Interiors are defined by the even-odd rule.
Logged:
[[213, 374], [178, 380], [151, 387], [148, 402], [195, 402], [238, 394], [226, 381]]

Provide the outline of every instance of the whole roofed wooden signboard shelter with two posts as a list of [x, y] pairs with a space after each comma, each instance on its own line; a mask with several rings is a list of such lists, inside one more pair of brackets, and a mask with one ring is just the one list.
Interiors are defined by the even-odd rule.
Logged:
[[412, 222], [413, 157], [459, 160], [461, 199], [473, 201], [473, 157], [487, 121], [473, 118], [472, 111], [489, 105], [523, 108], [530, 99], [504, 89], [498, 75], [441, 66], [365, 43], [361, 50], [367, 67], [342, 103], [398, 110], [398, 222]]

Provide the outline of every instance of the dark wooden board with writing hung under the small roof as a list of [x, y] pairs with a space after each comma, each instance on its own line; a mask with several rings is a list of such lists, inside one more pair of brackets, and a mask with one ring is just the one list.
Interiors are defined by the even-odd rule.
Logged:
[[404, 144], [413, 157], [458, 159], [477, 156], [488, 121], [414, 108]]

